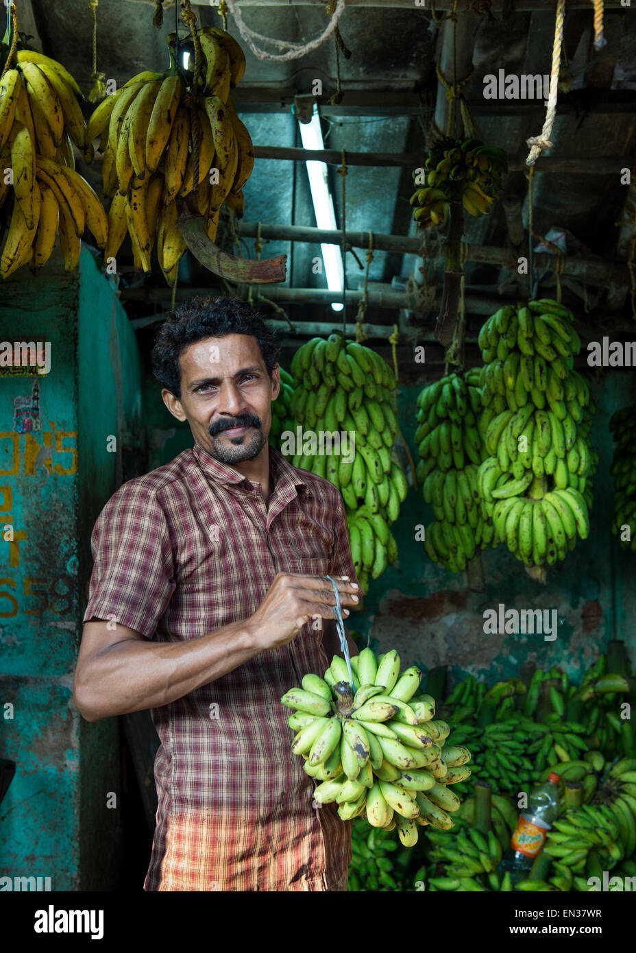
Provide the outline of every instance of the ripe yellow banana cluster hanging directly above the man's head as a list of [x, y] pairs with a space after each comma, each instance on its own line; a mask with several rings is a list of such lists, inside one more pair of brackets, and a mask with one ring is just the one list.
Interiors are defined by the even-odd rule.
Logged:
[[224, 203], [243, 214], [243, 187], [254, 164], [248, 130], [229, 98], [245, 72], [245, 55], [225, 30], [202, 27], [197, 35], [205, 75], [195, 77], [195, 89], [187, 88], [170, 48], [168, 71], [133, 76], [99, 104], [87, 130], [89, 143], [101, 136], [104, 194], [112, 198], [105, 258], [115, 256], [128, 231], [135, 268], [148, 273], [156, 237], [169, 285], [186, 251], [177, 195], [194, 193], [213, 241]]

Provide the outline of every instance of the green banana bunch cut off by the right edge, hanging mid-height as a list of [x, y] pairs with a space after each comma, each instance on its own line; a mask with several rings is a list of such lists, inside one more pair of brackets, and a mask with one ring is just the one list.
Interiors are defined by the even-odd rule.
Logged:
[[[616, 411], [609, 430], [614, 436], [614, 459], [610, 473], [614, 476], [614, 515], [612, 534], [620, 538], [621, 546], [636, 552], [636, 407]], [[629, 527], [629, 538], [624, 539], [623, 526]]]

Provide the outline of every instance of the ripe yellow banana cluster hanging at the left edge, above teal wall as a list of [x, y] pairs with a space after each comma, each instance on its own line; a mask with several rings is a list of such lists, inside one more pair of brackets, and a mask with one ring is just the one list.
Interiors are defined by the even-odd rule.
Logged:
[[[82, 91], [70, 72], [43, 53], [18, 50], [15, 59], [0, 82], [0, 207], [12, 196], [0, 213], [2, 224], [9, 223], [0, 256], [3, 278], [21, 265], [42, 268], [57, 234], [67, 271], [77, 264], [87, 229], [100, 249], [108, 236], [97, 194], [75, 172], [72, 143], [86, 148]], [[5, 181], [9, 168], [12, 183]]]

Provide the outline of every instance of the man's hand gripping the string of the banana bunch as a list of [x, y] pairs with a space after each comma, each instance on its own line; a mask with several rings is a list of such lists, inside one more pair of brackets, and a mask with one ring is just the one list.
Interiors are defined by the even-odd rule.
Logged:
[[[359, 602], [358, 586], [348, 578], [336, 577], [343, 618], [348, 605]], [[298, 635], [310, 618], [335, 618], [336, 597], [326, 576], [278, 573], [253, 616], [249, 629], [261, 650], [278, 648]]]

